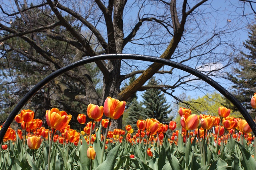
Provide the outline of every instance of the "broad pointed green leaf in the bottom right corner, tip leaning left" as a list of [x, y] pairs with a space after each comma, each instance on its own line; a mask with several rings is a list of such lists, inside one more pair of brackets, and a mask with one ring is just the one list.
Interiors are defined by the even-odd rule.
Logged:
[[239, 142], [236, 141], [236, 144], [238, 145], [240, 151], [241, 151], [241, 154], [242, 154], [242, 157], [241, 157], [241, 163], [242, 163], [242, 166], [244, 167], [244, 169], [246, 170], [254, 170], [255, 167], [256, 167], [256, 162], [254, 160], [254, 158], [252, 158], [250, 152], [248, 152], [244, 146], [242, 144], [240, 144]]

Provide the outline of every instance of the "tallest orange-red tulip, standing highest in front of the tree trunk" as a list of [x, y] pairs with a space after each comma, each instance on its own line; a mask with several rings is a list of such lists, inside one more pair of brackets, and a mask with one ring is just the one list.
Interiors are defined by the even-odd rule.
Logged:
[[124, 114], [125, 101], [119, 101], [108, 97], [104, 103], [104, 114], [110, 119], [118, 119]]

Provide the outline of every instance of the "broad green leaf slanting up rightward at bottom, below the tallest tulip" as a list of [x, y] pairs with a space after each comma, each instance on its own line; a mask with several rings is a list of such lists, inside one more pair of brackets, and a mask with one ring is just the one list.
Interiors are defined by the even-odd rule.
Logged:
[[96, 170], [113, 170], [114, 169], [116, 157], [121, 144], [122, 143], [118, 144], [118, 146], [114, 147], [112, 150], [110, 150], [110, 152], [108, 152], [108, 155], [106, 156], [106, 160], [102, 162], [102, 164], [100, 164]]

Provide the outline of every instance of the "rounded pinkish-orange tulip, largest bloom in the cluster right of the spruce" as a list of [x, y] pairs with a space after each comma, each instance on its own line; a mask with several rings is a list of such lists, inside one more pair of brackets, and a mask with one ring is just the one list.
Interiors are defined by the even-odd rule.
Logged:
[[194, 130], [199, 125], [199, 118], [197, 115], [190, 115], [186, 112], [185, 115], [180, 118], [180, 124], [186, 130]]

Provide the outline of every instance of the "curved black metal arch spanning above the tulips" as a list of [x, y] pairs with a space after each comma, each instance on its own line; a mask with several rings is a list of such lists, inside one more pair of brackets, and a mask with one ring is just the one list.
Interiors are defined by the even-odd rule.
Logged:
[[246, 111], [246, 109], [242, 106], [242, 104], [236, 99], [231, 93], [229, 93], [224, 87], [222, 87], [220, 84], [218, 84], [216, 81], [211, 79], [210, 77], [204, 75], [200, 71], [197, 71], [195, 69], [192, 69], [191, 67], [188, 67], [186, 65], [170, 61], [168, 59], [162, 59], [158, 57], [152, 57], [147, 55], [136, 55], [136, 54], [104, 54], [104, 55], [97, 55], [94, 57], [88, 57], [86, 59], [82, 59], [80, 61], [77, 61], [75, 63], [72, 63], [70, 65], [67, 65], [66, 67], [63, 67], [61, 69], [58, 69], [57, 71], [54, 71], [47, 77], [45, 77], [42, 81], [37, 83], [28, 93], [20, 100], [20, 102], [16, 105], [16, 107], [13, 109], [13, 111], [10, 113], [8, 118], [6, 119], [2, 129], [0, 130], [0, 143], [2, 142], [4, 138], [4, 134], [6, 133], [8, 127], [14, 120], [15, 116], [18, 114], [18, 112], [22, 109], [22, 107], [26, 104], [26, 102], [39, 90], [41, 89], [46, 83], [54, 79], [55, 77], [61, 75], [62, 73], [65, 73], [71, 69], [74, 69], [78, 66], [100, 61], [100, 60], [106, 60], [106, 59], [133, 59], [133, 60], [141, 60], [141, 61], [150, 61], [155, 63], [161, 63], [163, 65], [168, 65], [171, 67], [175, 67], [177, 69], [186, 71], [188, 73], [191, 73], [192, 75], [202, 79], [214, 89], [219, 91], [222, 95], [224, 95], [231, 103], [234, 104], [234, 106], [242, 113], [244, 119], [248, 122], [249, 126], [252, 128], [252, 132], [254, 135], [256, 135], [256, 124], [253, 121], [252, 117], [249, 115], [249, 113]]

